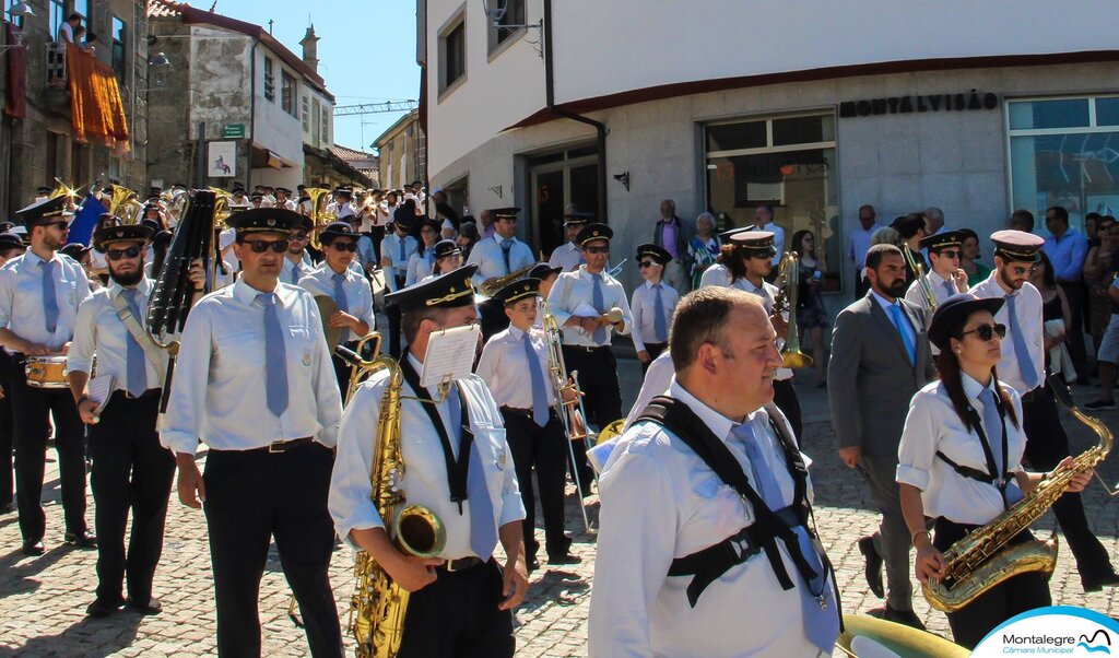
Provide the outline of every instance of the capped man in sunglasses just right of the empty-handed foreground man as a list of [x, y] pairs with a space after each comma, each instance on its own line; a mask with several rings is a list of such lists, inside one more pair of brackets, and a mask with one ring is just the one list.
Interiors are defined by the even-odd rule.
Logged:
[[[327, 327], [341, 329], [339, 342], [350, 348], [356, 347], [357, 341], [376, 325], [369, 280], [350, 266], [357, 257], [357, 237], [354, 227], [346, 222], [328, 225], [319, 235], [326, 260], [299, 281], [300, 288], [311, 294], [335, 300], [338, 311], [323, 318], [323, 321]], [[350, 365], [338, 355], [332, 355], [332, 358], [338, 388], [345, 392], [349, 387]]]

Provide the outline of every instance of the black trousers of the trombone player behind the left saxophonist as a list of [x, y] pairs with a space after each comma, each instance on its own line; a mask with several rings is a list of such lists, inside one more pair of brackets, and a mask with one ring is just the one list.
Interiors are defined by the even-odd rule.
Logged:
[[571, 546], [564, 534], [563, 495], [567, 463], [566, 436], [560, 415], [553, 408], [548, 423], [543, 427], [532, 419], [533, 412], [501, 407], [505, 419], [505, 438], [513, 451], [513, 463], [520, 483], [520, 499], [525, 502], [525, 556], [532, 562], [539, 544], [536, 542], [536, 492], [533, 488], [533, 468], [540, 487], [540, 509], [544, 511], [544, 540], [548, 555], [564, 555]]

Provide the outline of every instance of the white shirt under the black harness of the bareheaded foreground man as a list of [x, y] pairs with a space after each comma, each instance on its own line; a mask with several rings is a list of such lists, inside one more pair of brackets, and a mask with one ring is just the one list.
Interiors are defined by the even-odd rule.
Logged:
[[[686, 404], [723, 440], [753, 481], [750, 459], [731, 431], [737, 425], [684, 389], [674, 378], [669, 396]], [[784, 505], [793, 480], [772, 434], [769, 414], [746, 417]], [[783, 416], [774, 419], [791, 435]], [[806, 463], [809, 460], [806, 458]], [[782, 590], [764, 552], [732, 566], [688, 604], [692, 576], [667, 576], [676, 557], [718, 544], [754, 523], [753, 506], [683, 441], [650, 422], [620, 439], [599, 480], [601, 523], [589, 619], [592, 656], [817, 656], [802, 632], [798, 581]], [[811, 498], [811, 483], [807, 495]], [[777, 543], [789, 574], [796, 566]], [[796, 576], [794, 576], [796, 577]]]

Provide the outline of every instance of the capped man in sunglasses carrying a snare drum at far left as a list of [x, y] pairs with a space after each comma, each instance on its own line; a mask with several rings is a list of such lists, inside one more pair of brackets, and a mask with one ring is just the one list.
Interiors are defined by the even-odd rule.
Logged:
[[74, 398], [60, 388], [27, 384], [28, 357], [62, 354], [74, 337], [78, 306], [92, 293], [85, 270], [58, 254], [69, 235], [66, 197], [32, 204], [17, 213], [27, 225], [30, 250], [0, 270], [0, 345], [12, 355], [16, 499], [25, 555], [43, 555], [46, 516], [40, 498], [46, 468], [48, 415], [66, 521], [64, 540], [94, 548], [85, 523], [85, 432]]

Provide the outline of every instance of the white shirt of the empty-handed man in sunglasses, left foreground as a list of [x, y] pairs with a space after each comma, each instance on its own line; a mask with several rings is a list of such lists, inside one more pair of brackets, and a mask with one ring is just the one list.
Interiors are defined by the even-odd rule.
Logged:
[[276, 283], [276, 314], [285, 328], [288, 408], [269, 411], [264, 308], [243, 280], [207, 294], [187, 318], [160, 442], [194, 454], [201, 439], [216, 450], [254, 450], [311, 436], [333, 448], [341, 394], [314, 298]]

